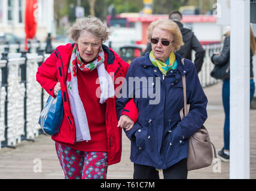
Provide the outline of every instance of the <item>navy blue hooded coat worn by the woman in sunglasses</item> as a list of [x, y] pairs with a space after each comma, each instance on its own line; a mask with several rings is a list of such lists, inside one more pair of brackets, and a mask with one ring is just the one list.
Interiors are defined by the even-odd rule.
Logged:
[[[138, 121], [132, 130], [125, 131], [131, 140], [130, 159], [135, 164], [166, 169], [187, 158], [188, 138], [207, 118], [208, 100], [194, 64], [185, 59], [183, 65], [181, 56], [176, 53], [175, 56], [177, 69], [169, 70], [166, 76], [151, 63], [148, 53], [135, 58], [127, 71], [126, 83], [123, 82], [121, 97], [116, 100], [118, 118], [130, 98], [134, 98], [139, 110]], [[186, 75], [187, 103], [191, 106], [181, 121], [182, 75]], [[135, 82], [131, 83], [132, 80]], [[153, 100], [155, 103], [150, 103]]]

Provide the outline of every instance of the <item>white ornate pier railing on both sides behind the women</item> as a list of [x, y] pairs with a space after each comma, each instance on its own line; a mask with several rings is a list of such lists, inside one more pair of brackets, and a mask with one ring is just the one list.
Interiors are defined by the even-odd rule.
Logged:
[[[0, 149], [1, 147], [15, 147], [22, 140], [32, 140], [38, 136], [40, 129], [38, 118], [48, 94], [36, 82], [35, 76], [39, 64], [50, 56], [49, 54], [35, 54], [38, 45], [32, 45], [31, 52], [33, 53], [5, 52], [1, 55]], [[214, 68], [211, 55], [220, 52], [221, 47], [220, 44], [204, 47], [205, 61], [199, 73], [202, 87], [218, 82], [210, 76]], [[4, 48], [0, 47], [0, 53]], [[17, 45], [10, 45], [8, 50], [16, 52]]]

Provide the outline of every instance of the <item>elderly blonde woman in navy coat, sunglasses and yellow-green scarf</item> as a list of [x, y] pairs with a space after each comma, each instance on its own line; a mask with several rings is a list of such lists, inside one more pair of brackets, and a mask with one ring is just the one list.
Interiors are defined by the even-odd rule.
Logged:
[[[188, 138], [205, 122], [208, 101], [194, 64], [187, 59], [182, 64], [175, 53], [183, 44], [177, 24], [168, 19], [154, 21], [147, 38], [152, 51], [132, 61], [116, 100], [120, 121], [126, 118], [121, 113], [131, 98], [139, 111], [133, 127], [121, 125], [131, 140], [133, 177], [159, 178], [163, 170], [164, 178], [187, 178]], [[186, 75], [191, 107], [181, 121], [182, 75]]]

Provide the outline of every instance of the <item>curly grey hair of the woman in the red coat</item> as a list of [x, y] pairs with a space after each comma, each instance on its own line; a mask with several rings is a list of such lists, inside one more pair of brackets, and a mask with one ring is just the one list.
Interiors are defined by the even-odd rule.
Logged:
[[102, 42], [108, 40], [110, 32], [101, 20], [96, 17], [81, 17], [75, 21], [75, 24], [68, 29], [68, 34], [71, 36], [71, 39], [77, 41], [80, 37], [80, 34], [83, 30], [87, 30], [97, 38], [100, 38]]

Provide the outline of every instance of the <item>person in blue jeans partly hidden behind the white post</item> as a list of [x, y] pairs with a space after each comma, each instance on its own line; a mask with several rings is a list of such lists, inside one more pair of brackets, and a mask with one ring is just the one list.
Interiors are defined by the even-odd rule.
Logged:
[[[230, 62], [230, 30], [224, 34], [224, 44], [221, 53], [215, 53], [212, 55], [211, 60], [215, 65], [229, 64]], [[256, 54], [256, 42], [252, 29], [250, 28], [250, 103], [254, 96], [255, 84], [254, 73], [252, 70], [252, 56]], [[239, 63], [237, 63], [239, 64]], [[242, 63], [240, 63], [242, 64]], [[228, 162], [230, 156], [230, 76], [226, 75], [223, 79], [223, 107], [225, 113], [224, 122], [224, 147], [218, 152], [218, 158], [221, 161]]]

